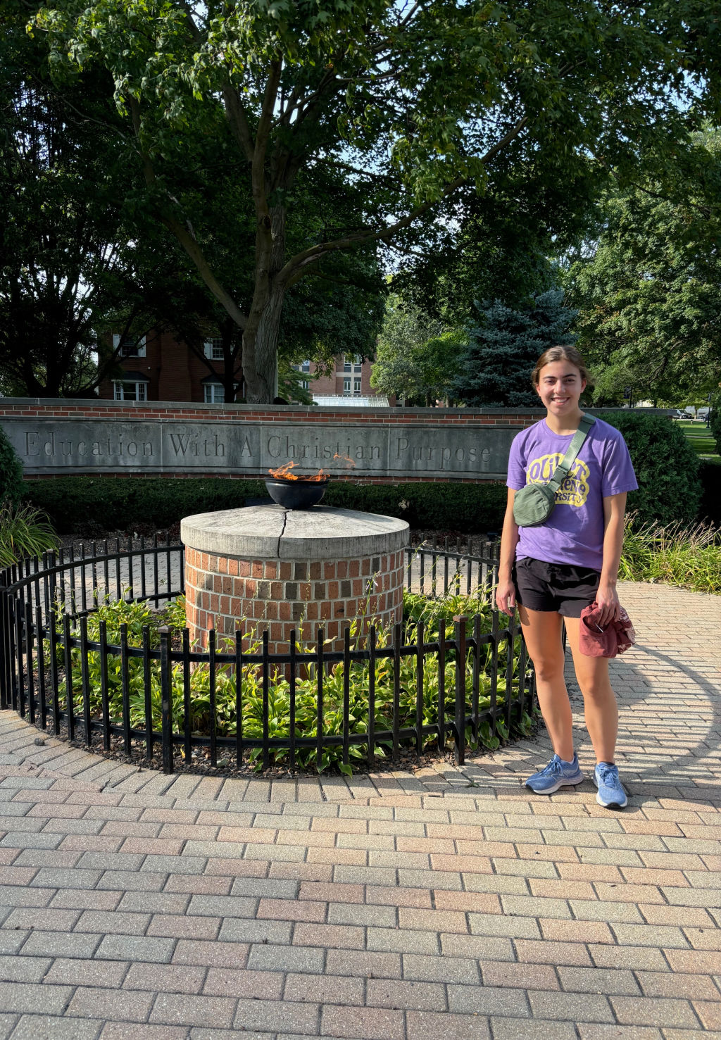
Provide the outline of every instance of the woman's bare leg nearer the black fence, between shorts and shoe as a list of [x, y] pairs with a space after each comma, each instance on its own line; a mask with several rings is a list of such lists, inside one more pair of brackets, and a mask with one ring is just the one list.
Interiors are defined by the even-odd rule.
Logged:
[[525, 646], [534, 662], [538, 703], [550, 743], [559, 758], [570, 762], [573, 758], [573, 719], [563, 676], [563, 619], [555, 610], [529, 610], [520, 605], [518, 614]]

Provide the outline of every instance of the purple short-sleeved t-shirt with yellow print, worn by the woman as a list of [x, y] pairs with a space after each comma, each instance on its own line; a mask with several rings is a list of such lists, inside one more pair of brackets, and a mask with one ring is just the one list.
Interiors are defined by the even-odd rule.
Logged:
[[[565, 456], [572, 434], [555, 434], [545, 419], [514, 437], [508, 462], [509, 488], [547, 484]], [[538, 527], [519, 527], [516, 560], [572, 564], [600, 571], [603, 563], [603, 498], [636, 491], [636, 474], [623, 437], [596, 419], [571, 470], [556, 492], [556, 508]]]

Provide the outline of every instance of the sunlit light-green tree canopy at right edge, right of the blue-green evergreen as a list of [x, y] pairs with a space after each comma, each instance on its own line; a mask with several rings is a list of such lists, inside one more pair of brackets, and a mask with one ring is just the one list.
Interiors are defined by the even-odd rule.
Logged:
[[609, 193], [566, 283], [598, 399], [681, 401], [721, 381], [721, 135], [699, 135], [672, 190], [648, 178]]

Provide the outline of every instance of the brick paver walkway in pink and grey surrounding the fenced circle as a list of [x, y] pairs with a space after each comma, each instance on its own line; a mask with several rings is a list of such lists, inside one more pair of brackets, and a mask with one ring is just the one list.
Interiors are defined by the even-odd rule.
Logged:
[[719, 1040], [721, 598], [622, 601], [623, 813], [589, 781], [530, 797], [544, 735], [462, 771], [224, 782], [4, 712], [0, 1040]]

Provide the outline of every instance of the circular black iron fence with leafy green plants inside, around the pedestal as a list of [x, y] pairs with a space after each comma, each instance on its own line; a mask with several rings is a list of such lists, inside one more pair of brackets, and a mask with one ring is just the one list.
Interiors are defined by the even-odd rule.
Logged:
[[[0, 572], [0, 706], [166, 773], [199, 754], [211, 766], [267, 768], [282, 756], [347, 772], [395, 759], [404, 745], [449, 740], [462, 763], [467, 747], [523, 732], [535, 699], [520, 628], [491, 602], [496, 573], [491, 543], [423, 545], [407, 550], [407, 588], [429, 608], [415, 601], [404, 624], [363, 638], [352, 625], [339, 651], [323, 632], [308, 646], [299, 629], [272, 654], [267, 633], [239, 619], [233, 639], [210, 632], [201, 652], [171, 617], [181, 545], [46, 553]], [[475, 597], [472, 615], [447, 617], [449, 596]]]

